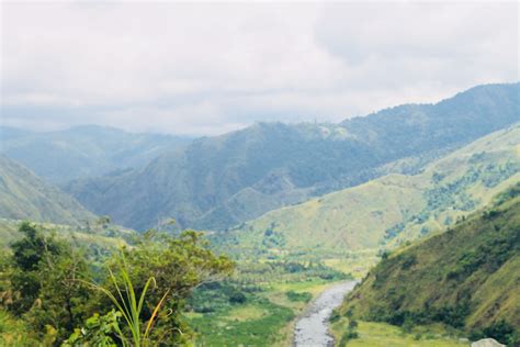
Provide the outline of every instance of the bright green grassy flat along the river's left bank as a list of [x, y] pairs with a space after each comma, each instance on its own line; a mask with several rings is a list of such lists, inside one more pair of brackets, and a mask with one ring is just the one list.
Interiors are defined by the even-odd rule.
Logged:
[[[241, 289], [236, 283], [223, 286], [195, 292], [189, 305], [185, 318], [196, 332], [196, 346], [290, 346], [295, 318], [330, 282], [309, 279]], [[237, 290], [245, 294], [244, 301], [229, 301]]]

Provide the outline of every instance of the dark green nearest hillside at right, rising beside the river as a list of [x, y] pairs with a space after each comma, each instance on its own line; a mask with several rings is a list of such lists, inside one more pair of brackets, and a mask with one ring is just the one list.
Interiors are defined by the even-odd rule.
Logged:
[[498, 204], [382, 260], [341, 312], [396, 325], [442, 322], [513, 345], [519, 283], [520, 183]]

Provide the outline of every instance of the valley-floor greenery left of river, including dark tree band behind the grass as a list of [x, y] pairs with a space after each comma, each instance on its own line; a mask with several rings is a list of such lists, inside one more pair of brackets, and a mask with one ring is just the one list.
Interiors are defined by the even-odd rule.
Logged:
[[[271, 271], [274, 269], [275, 271]], [[238, 262], [225, 282], [201, 286], [188, 300], [185, 317], [200, 346], [291, 345], [294, 318], [332, 280], [350, 278], [323, 265]]]

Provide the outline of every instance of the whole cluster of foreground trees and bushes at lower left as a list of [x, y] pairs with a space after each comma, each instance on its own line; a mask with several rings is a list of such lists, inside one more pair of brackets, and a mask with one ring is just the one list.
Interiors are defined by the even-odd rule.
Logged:
[[23, 237], [0, 259], [0, 313], [31, 332], [26, 345], [186, 342], [191, 332], [181, 320], [186, 298], [234, 269], [191, 231], [178, 237], [146, 232], [100, 267], [83, 249], [30, 223], [20, 233]]

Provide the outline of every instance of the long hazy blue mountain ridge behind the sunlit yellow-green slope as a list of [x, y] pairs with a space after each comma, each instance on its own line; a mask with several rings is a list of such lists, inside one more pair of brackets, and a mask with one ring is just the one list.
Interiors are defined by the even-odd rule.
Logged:
[[66, 187], [81, 203], [143, 230], [225, 230], [387, 172], [429, 160], [518, 121], [520, 85], [473, 88], [437, 104], [403, 105], [340, 124], [257, 124], [194, 141], [147, 167]]

